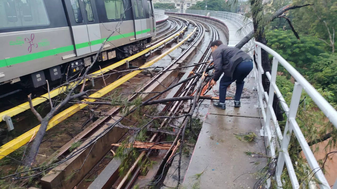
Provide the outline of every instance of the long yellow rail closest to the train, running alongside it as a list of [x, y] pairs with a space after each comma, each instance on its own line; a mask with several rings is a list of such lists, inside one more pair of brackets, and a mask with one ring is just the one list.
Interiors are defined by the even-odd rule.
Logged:
[[[167, 41], [170, 41], [170, 40], [173, 39], [174, 37], [179, 36], [181, 33], [184, 32], [184, 30], [186, 29], [186, 27], [187, 27], [187, 26], [185, 26], [182, 30], [180, 30], [179, 32], [177, 32], [177, 33], [174, 34], [173, 36], [171, 36], [171, 37], [165, 39], [165, 40], [162, 41], [162, 42], [160, 42], [160, 43], [158, 43], [158, 44], [156, 44], [156, 45], [153, 45], [153, 46], [151, 46], [151, 47], [149, 47], [149, 48], [147, 48], [147, 49], [145, 49], [145, 50], [142, 50], [141, 52], [138, 52], [138, 53], [136, 53], [136, 54], [134, 54], [134, 55], [132, 55], [132, 56], [129, 56], [128, 58], [123, 59], [123, 60], [121, 60], [121, 61], [119, 61], [119, 62], [117, 62], [117, 63], [114, 63], [114, 64], [112, 64], [112, 65], [110, 65], [110, 66], [107, 66], [107, 67], [103, 68], [102, 71], [101, 71], [101, 70], [98, 70], [98, 71], [96, 71], [96, 72], [93, 72], [93, 73], [91, 73], [91, 74], [88, 74], [88, 76], [90, 76], [90, 78], [98, 77], [98, 76], [102, 75], [102, 73], [108, 72], [108, 71], [110, 71], [110, 70], [113, 70], [113, 69], [115, 69], [115, 68], [117, 68], [117, 67], [119, 67], [119, 66], [125, 64], [126, 61], [131, 61], [131, 60], [133, 60], [133, 59], [135, 59], [135, 58], [138, 58], [139, 56], [141, 56], [141, 55], [143, 55], [143, 54], [145, 54], [145, 53], [147, 53], [147, 52], [150, 52], [151, 50], [153, 50], [153, 49], [159, 47], [160, 45], [166, 43]], [[87, 81], [87, 80], [88, 80], [88, 79], [86, 79], [86, 81]], [[82, 82], [81, 82], [81, 83], [82, 83]], [[80, 84], [81, 84], [81, 83], [80, 83]], [[75, 85], [75, 83], [72, 82], [72, 83], [70, 83], [69, 85], [65, 85], [65, 86], [62, 86], [62, 87], [59, 87], [59, 88], [54, 89], [54, 90], [50, 91], [50, 97], [51, 97], [51, 98], [54, 98], [54, 97], [58, 96], [59, 94], [65, 92], [65, 91], [67, 90], [67, 88], [71, 88], [71, 87], [73, 87], [74, 85]], [[47, 101], [48, 99], [49, 99], [48, 93], [45, 93], [44, 95], [41, 95], [41, 97], [37, 97], [37, 98], [35, 98], [35, 99], [32, 100], [33, 106], [36, 106], [36, 105], [38, 105], [38, 104], [41, 104], [42, 102]], [[6, 111], [3, 111], [3, 112], [0, 113], [0, 122], [3, 121], [3, 120], [2, 120], [2, 117], [5, 116], [5, 115], [10, 116], [10, 117], [13, 117], [14, 115], [17, 115], [17, 114], [19, 114], [19, 113], [21, 113], [21, 112], [24, 112], [24, 111], [28, 110], [28, 109], [30, 109], [29, 102], [25, 102], [25, 103], [23, 103], [23, 104], [21, 104], [21, 105], [19, 105], [19, 106], [16, 106], [16, 107], [13, 107], [13, 108], [8, 109], [8, 110], [6, 110]]]

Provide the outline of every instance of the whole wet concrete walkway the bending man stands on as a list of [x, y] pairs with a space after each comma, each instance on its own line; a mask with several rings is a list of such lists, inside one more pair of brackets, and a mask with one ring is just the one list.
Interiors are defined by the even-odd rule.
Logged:
[[[242, 36], [236, 34], [237, 28], [233, 24], [226, 23], [230, 32], [228, 46], [235, 46]], [[214, 90], [218, 90], [218, 87], [214, 86]], [[233, 83], [227, 96], [234, 96], [235, 89]], [[258, 172], [266, 165], [265, 158], [255, 157], [265, 154], [260, 129], [261, 119], [251, 73], [245, 79], [240, 108], [234, 108], [233, 100], [226, 101], [226, 110], [217, 109], [213, 102], [210, 103], [182, 186], [202, 189], [257, 188]], [[239, 140], [249, 132], [256, 135], [252, 142]]]

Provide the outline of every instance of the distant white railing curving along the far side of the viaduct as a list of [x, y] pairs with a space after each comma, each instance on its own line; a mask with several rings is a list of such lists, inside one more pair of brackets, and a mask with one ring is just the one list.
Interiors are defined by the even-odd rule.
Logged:
[[[254, 29], [252, 20], [250, 20], [249, 18], [243, 15], [232, 13], [232, 12], [221, 12], [221, 11], [213, 11], [213, 10], [189, 10], [189, 9], [187, 10], [184, 10], [184, 9], [155, 9], [155, 10], [164, 10], [165, 12], [182, 13], [182, 14], [196, 14], [196, 15], [202, 15], [202, 16], [210, 16], [210, 17], [220, 18], [220, 20], [225, 19], [231, 22], [232, 24], [234, 24], [234, 26], [236, 26], [237, 28], [240, 28], [241, 29], [240, 34], [244, 36], [249, 34]], [[248, 47], [251, 47], [251, 48], [253, 47], [252, 40], [248, 42]]]

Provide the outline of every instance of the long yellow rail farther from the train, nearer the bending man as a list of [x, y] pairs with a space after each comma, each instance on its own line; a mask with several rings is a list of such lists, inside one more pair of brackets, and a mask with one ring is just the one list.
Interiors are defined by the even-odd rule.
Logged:
[[[143, 66], [141, 66], [140, 68], [146, 68], [151, 66], [152, 64], [156, 63], [157, 61], [159, 61], [160, 59], [162, 59], [164, 56], [166, 56], [168, 53], [172, 52], [174, 49], [176, 49], [177, 47], [179, 47], [181, 44], [183, 44], [184, 42], [186, 42], [186, 40], [192, 36], [192, 34], [196, 31], [196, 28], [194, 28], [194, 30], [181, 42], [179, 42], [178, 44], [176, 44], [175, 46], [173, 46], [172, 48], [170, 48], [169, 50], [165, 51], [165, 53], [157, 56], [155, 59], [145, 63]], [[132, 59], [131, 59], [132, 60]], [[106, 93], [110, 92], [111, 90], [115, 89], [116, 87], [118, 87], [119, 85], [121, 85], [122, 83], [124, 83], [125, 81], [131, 79], [132, 77], [134, 77], [135, 75], [139, 74], [140, 72], [142, 72], [143, 70], [137, 70], [137, 71], [133, 71], [128, 73], [127, 75], [123, 76], [122, 78], [116, 80], [115, 82], [111, 83], [110, 85], [98, 90], [97, 92], [93, 93], [92, 95], [90, 95], [89, 97], [92, 98], [99, 98], [104, 96]], [[94, 102], [95, 99], [84, 99], [82, 100], [83, 102]], [[59, 114], [57, 114], [56, 116], [54, 116], [48, 123], [47, 126], [47, 130], [49, 130], [50, 128], [52, 128], [53, 126], [55, 126], [56, 124], [60, 123], [61, 121], [65, 120], [67, 117], [73, 115], [74, 113], [78, 112], [79, 110], [81, 110], [82, 108], [88, 106], [88, 104], [75, 104], [69, 108], [67, 108], [66, 110], [60, 112]], [[5, 157], [6, 155], [10, 154], [11, 152], [13, 152], [14, 150], [20, 148], [21, 146], [25, 145], [26, 143], [28, 143], [32, 137], [32, 135], [34, 135], [38, 129], [40, 128], [40, 125], [37, 125], [36, 127], [30, 129], [29, 131], [27, 131], [26, 133], [20, 135], [19, 137], [9, 141], [8, 143], [4, 144], [3, 146], [0, 147], [0, 159], [2, 159], [3, 157]]]

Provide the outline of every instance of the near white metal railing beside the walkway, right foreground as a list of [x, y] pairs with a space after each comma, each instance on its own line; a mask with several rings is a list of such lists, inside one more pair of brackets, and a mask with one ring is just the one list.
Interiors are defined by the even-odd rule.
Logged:
[[[319, 94], [319, 92], [286, 60], [282, 58], [280, 54], [267, 47], [266, 45], [254, 42], [255, 49], [255, 59], [257, 62], [257, 68], [255, 68], [256, 77], [256, 87], [258, 89], [258, 101], [262, 109], [263, 119], [264, 119], [264, 133], [268, 137], [268, 141], [271, 141], [269, 144], [270, 153], [273, 157], [275, 156], [275, 149], [279, 148], [279, 155], [277, 159], [276, 165], [276, 181], [279, 187], [282, 187], [281, 174], [283, 171], [284, 164], [287, 167], [287, 171], [290, 177], [290, 181], [292, 182], [293, 188], [300, 188], [300, 184], [295, 174], [295, 170], [293, 167], [292, 160], [288, 154], [288, 145], [290, 141], [290, 137], [294, 132], [297, 141], [299, 142], [304, 155], [307, 159], [308, 165], [312, 170], [312, 174], [318, 179], [320, 188], [330, 189], [329, 183], [326, 180], [319, 164], [317, 163], [314, 154], [312, 153], [299, 125], [296, 122], [296, 115], [298, 106], [300, 103], [301, 93], [304, 89], [307, 94], [311, 97], [311, 99], [316, 103], [319, 109], [327, 116], [327, 118], [331, 121], [331, 123], [337, 128], [337, 111]], [[267, 51], [269, 54], [273, 56], [272, 70], [271, 73], [266, 72], [266, 75], [270, 81], [269, 94], [264, 91], [262, 86], [262, 74], [264, 70], [262, 68], [262, 60], [261, 60], [261, 50]], [[285, 103], [284, 98], [280, 90], [276, 85], [276, 75], [277, 75], [277, 66], [281, 64], [296, 80], [293, 90], [293, 96], [290, 102], [290, 107]], [[286, 125], [281, 133], [281, 129], [278, 125], [276, 115], [273, 109], [273, 99], [274, 92], [280, 100], [280, 104], [285, 111], [287, 116]], [[266, 108], [264, 106], [263, 99], [266, 101]], [[267, 109], [267, 110], [265, 110]], [[270, 120], [273, 121], [274, 127], [270, 125]], [[277, 146], [276, 146], [277, 145]], [[336, 181], [337, 182], [337, 181]], [[334, 189], [337, 186], [334, 186]]]

